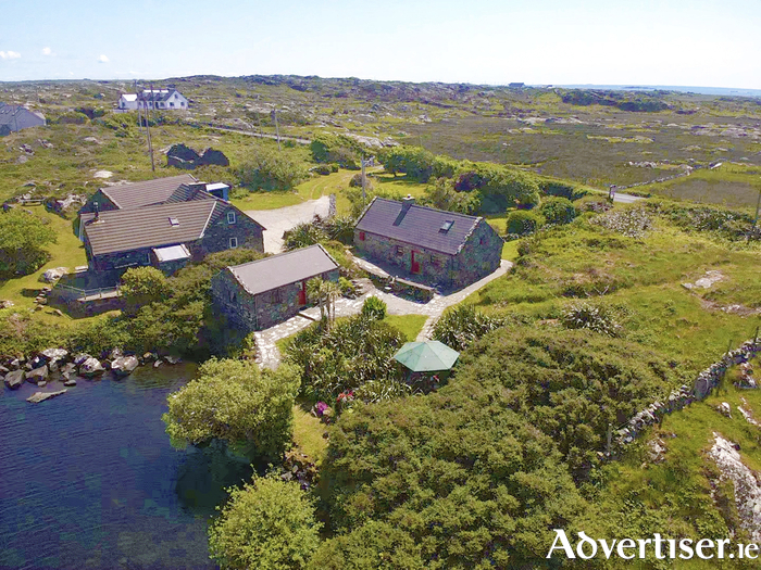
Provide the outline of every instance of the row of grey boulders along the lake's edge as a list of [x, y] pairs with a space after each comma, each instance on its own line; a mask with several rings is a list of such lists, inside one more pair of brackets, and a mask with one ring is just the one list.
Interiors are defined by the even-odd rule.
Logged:
[[[179, 362], [175, 356], [159, 356], [153, 352], [137, 356], [125, 354], [121, 349], [113, 349], [100, 358], [86, 353], [72, 354], [65, 349], [46, 349], [29, 358], [0, 358], [0, 378], [10, 390], [17, 390], [24, 382], [45, 388], [49, 382], [57, 380], [71, 388], [76, 385], [77, 377], [97, 380], [107, 371], [111, 371], [116, 379], [121, 379], [129, 376], [138, 366], [152, 365], [158, 368], [164, 364], [174, 365]], [[57, 392], [35, 392], [27, 402], [45, 402], [65, 392], [65, 389]]]

